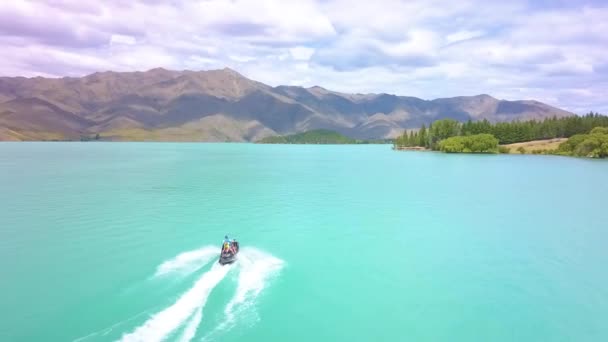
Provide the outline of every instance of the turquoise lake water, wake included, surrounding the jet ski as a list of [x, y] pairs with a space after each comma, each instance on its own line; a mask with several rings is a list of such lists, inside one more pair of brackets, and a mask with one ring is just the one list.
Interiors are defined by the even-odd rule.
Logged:
[[607, 341], [607, 265], [606, 161], [0, 144], [1, 341]]

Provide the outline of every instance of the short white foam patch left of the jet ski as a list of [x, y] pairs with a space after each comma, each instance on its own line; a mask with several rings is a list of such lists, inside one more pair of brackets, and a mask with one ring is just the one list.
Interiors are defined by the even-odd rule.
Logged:
[[212, 259], [219, 255], [219, 248], [215, 246], [205, 246], [193, 251], [188, 251], [169, 259], [156, 268], [155, 277], [164, 276], [170, 273], [190, 274], [205, 266]]

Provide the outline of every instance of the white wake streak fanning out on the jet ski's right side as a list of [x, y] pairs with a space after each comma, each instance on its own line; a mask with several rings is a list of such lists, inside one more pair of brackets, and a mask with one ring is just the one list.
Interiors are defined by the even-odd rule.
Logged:
[[236, 324], [236, 316], [249, 310], [255, 300], [268, 285], [270, 278], [276, 275], [285, 262], [256, 248], [244, 248], [239, 253], [239, 277], [236, 292], [224, 309], [224, 321], [218, 325], [204, 340], [212, 339], [213, 334], [231, 328]]

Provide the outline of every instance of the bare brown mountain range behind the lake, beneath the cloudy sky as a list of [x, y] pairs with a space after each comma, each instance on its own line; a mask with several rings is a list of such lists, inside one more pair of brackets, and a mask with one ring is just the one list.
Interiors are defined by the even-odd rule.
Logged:
[[423, 100], [269, 85], [225, 68], [98, 72], [84, 77], [0, 77], [0, 140], [257, 141], [328, 129], [391, 138], [437, 119], [491, 122], [574, 115], [489, 95]]

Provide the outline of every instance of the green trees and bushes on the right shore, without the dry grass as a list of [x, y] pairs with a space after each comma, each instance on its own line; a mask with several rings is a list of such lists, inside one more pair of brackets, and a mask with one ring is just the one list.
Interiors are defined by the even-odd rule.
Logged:
[[[594, 130], [595, 127], [599, 127]], [[587, 141], [576, 148], [568, 145], [564, 147], [562, 154], [580, 155], [577, 153], [588, 152], [589, 146], [595, 146], [603, 141], [598, 138], [604, 129], [608, 127], [608, 116], [598, 113], [589, 113], [584, 116], [568, 116], [564, 118], [547, 118], [544, 120], [499, 122], [492, 124], [488, 120], [471, 120], [460, 123], [452, 119], [442, 119], [433, 122], [428, 128], [423, 125], [418, 131], [405, 131], [403, 135], [394, 141], [395, 148], [424, 147], [432, 150], [445, 152], [486, 152], [497, 153], [498, 144], [512, 144], [532, 140], [543, 140], [553, 138], [577, 137], [571, 145]], [[590, 133], [594, 130], [595, 133]], [[589, 133], [589, 134], [587, 134]], [[455, 139], [452, 139], [455, 138]], [[494, 138], [494, 139], [491, 139]], [[599, 140], [598, 140], [599, 139]], [[600, 144], [600, 146], [602, 146]], [[598, 147], [601, 151], [602, 148]], [[597, 148], [592, 149], [596, 151]], [[591, 153], [591, 152], [589, 152]], [[588, 154], [589, 154], [588, 153]], [[593, 153], [591, 153], [593, 154]], [[598, 152], [597, 154], [600, 154]]]

